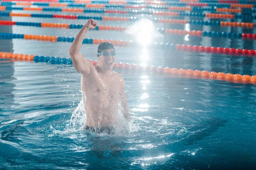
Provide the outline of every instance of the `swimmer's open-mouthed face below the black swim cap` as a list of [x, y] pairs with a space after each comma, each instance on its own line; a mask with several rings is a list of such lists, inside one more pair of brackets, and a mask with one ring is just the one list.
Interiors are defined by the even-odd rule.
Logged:
[[[99, 64], [102, 68], [105, 68], [106, 70], [112, 70], [115, 62], [116, 62], [116, 55], [112, 56], [111, 52], [115, 52], [114, 49], [107, 49], [104, 50], [107, 51], [109, 53], [109, 55], [107, 57], [100, 55], [99, 58]], [[102, 51], [102, 53], [104, 52]]]

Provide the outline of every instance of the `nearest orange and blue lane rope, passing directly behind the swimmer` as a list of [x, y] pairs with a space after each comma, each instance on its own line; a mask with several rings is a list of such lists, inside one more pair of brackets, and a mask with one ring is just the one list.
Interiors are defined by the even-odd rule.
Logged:
[[[34, 61], [34, 62], [47, 62], [51, 64], [69, 64], [72, 65], [72, 60], [68, 58], [61, 57], [45, 57], [45, 56], [34, 56], [28, 54], [13, 54], [0, 52], [0, 59], [14, 59], [14, 61]], [[97, 61], [87, 60], [93, 65], [98, 65]], [[124, 63], [115, 63], [115, 68], [121, 69], [131, 69], [132, 71], [150, 71], [154, 73], [163, 73], [170, 76], [180, 77], [180, 78], [193, 78], [193, 79], [212, 79], [212, 80], [221, 80], [234, 83], [251, 83], [256, 84], [256, 76], [241, 75], [241, 74], [231, 74], [231, 73], [217, 73], [215, 71], [200, 71], [200, 70], [191, 70], [191, 69], [177, 69], [177, 68], [168, 68], [168, 67], [154, 67], [154, 66], [142, 66], [136, 64], [124, 64]]]

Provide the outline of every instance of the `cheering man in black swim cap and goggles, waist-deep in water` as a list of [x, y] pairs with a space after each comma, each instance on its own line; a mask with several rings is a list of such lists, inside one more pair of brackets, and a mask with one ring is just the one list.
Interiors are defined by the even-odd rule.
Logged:
[[[81, 73], [81, 90], [86, 96], [86, 129], [97, 132], [107, 130], [110, 133], [117, 124], [118, 104], [123, 108], [123, 116], [130, 119], [129, 107], [125, 94], [125, 81], [120, 74], [112, 71], [116, 61], [116, 49], [110, 42], [102, 42], [98, 47], [99, 65], [92, 65], [79, 53], [85, 34], [96, 28], [93, 19], [81, 28], [70, 47], [73, 65]], [[83, 97], [84, 99], [84, 97]]]

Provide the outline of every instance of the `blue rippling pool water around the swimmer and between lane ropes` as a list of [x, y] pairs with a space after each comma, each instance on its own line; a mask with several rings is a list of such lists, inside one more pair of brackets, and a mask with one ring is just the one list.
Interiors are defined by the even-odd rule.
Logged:
[[[0, 17], [0, 20], [38, 22], [37, 18], [23, 17]], [[40, 22], [84, 24], [86, 20], [42, 18]], [[131, 24], [98, 23], [110, 26]], [[255, 33], [236, 27], [160, 23], [156, 26]], [[6, 33], [66, 37], [76, 37], [79, 31], [26, 26], [0, 28]], [[134, 40], [134, 37], [117, 31], [89, 31], [87, 37]], [[155, 41], [255, 49], [253, 40], [165, 35]], [[70, 45], [67, 42], [0, 40], [0, 51], [68, 57]], [[97, 46], [85, 44], [81, 53], [87, 59], [96, 60]], [[117, 62], [123, 63], [256, 75], [254, 57], [142, 46], [116, 47], [116, 52]], [[120, 68], [115, 71], [125, 79], [133, 122], [122, 133], [97, 135], [69, 126], [72, 113], [81, 101], [81, 77], [72, 65], [1, 62], [0, 168], [204, 170], [256, 167], [255, 85], [169, 77], [163, 73]]]

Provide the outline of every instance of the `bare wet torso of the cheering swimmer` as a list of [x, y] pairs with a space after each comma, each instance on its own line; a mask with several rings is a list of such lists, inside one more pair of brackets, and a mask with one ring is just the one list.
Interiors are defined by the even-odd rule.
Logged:
[[82, 77], [81, 89], [86, 96], [86, 124], [89, 127], [112, 127], [116, 124], [116, 113], [121, 92], [121, 75], [114, 71], [101, 73], [91, 69]]

